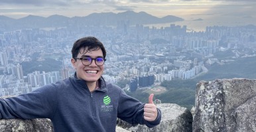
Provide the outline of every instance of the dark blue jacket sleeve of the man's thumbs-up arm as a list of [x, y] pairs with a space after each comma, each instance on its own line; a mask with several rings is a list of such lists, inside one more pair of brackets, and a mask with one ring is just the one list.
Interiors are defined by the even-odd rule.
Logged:
[[128, 96], [123, 90], [119, 95], [119, 106], [117, 117], [131, 123], [132, 125], [147, 125], [147, 127], [155, 127], [160, 123], [161, 112], [157, 108], [157, 119], [155, 121], [146, 121], [143, 117], [144, 114], [144, 103], [139, 100]]

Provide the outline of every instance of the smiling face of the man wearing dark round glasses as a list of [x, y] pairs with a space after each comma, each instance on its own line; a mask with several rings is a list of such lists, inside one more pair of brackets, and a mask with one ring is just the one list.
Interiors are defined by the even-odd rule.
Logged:
[[80, 59], [76, 59], [76, 61], [74, 58], [71, 59], [72, 65], [76, 69], [76, 75], [78, 79], [82, 79], [87, 82], [96, 82], [101, 77], [104, 71], [104, 65], [98, 66], [96, 65], [95, 61], [97, 57], [103, 58], [102, 50], [99, 48], [95, 51], [87, 51], [84, 50], [84, 48], [81, 48], [77, 57], [92, 58], [92, 63], [88, 66], [83, 65], [82, 60]]

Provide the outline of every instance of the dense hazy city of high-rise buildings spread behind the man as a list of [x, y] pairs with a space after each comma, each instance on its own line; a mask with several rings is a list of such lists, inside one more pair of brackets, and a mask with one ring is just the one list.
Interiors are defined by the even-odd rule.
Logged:
[[[204, 31], [196, 32], [188, 30], [186, 25], [170, 23], [157, 28], [123, 21], [117, 26], [0, 32], [0, 96], [28, 93], [72, 77], [75, 70], [70, 62], [71, 48], [84, 36], [99, 38], [107, 50], [104, 79], [115, 84], [127, 80], [125, 88], [133, 92], [172, 79], [192, 79], [206, 73], [206, 65], [232, 61], [214, 57], [218, 51], [232, 49], [233, 58], [255, 56], [255, 29], [253, 25], [207, 26]], [[42, 71], [42, 65], [32, 65], [48, 58], [61, 62], [52, 67], [58, 70]], [[38, 70], [25, 73], [31, 67]]]

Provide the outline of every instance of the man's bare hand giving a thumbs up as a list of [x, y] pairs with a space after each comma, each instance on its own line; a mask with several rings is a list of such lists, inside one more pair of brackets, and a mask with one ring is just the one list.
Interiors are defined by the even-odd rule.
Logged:
[[153, 103], [154, 94], [149, 96], [149, 104], [144, 106], [144, 119], [147, 121], [155, 121], [157, 119], [157, 106]]

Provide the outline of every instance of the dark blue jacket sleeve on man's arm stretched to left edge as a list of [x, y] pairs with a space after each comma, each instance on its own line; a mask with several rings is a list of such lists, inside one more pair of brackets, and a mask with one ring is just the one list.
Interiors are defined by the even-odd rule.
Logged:
[[56, 108], [56, 88], [53, 84], [42, 86], [28, 94], [0, 98], [0, 119], [50, 118]]

